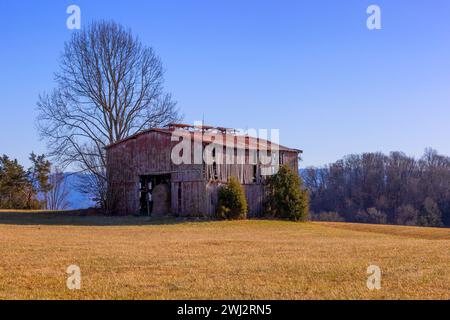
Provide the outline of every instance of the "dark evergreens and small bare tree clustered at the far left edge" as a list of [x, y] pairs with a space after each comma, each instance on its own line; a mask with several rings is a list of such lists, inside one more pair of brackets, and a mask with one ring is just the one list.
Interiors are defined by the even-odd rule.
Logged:
[[31, 153], [27, 169], [7, 155], [0, 157], [0, 209], [64, 210], [68, 186], [64, 174], [45, 155]]

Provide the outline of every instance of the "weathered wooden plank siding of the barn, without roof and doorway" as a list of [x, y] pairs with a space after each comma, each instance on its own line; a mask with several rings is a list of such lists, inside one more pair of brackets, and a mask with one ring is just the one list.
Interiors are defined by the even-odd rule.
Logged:
[[[229, 176], [244, 186], [251, 217], [262, 214], [264, 202], [263, 166], [257, 165], [256, 180], [252, 164], [182, 164], [171, 161], [177, 142], [171, 135], [149, 131], [106, 149], [109, 187], [116, 199], [118, 214], [137, 214], [140, 207], [140, 177], [170, 175], [170, 210], [180, 216], [211, 216], [217, 206], [218, 188]], [[224, 153], [225, 154], [225, 153]], [[192, 150], [193, 157], [193, 150]], [[248, 163], [249, 152], [245, 154]], [[298, 152], [280, 151], [281, 163], [298, 172]], [[181, 194], [181, 198], [179, 195]]]

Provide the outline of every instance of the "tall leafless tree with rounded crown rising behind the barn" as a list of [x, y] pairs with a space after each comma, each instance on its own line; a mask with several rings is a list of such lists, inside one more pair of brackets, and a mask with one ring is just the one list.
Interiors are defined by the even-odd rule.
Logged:
[[150, 47], [114, 22], [93, 23], [66, 43], [57, 88], [39, 97], [38, 128], [63, 168], [93, 175], [84, 191], [107, 207], [104, 148], [179, 120]]

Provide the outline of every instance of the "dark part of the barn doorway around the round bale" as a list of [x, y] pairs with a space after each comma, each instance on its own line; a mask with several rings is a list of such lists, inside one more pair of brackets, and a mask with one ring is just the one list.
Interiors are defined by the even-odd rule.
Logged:
[[[151, 216], [154, 210], [155, 199], [153, 198], [155, 188], [166, 185], [170, 192], [170, 174], [140, 176], [140, 213]], [[170, 196], [169, 196], [170, 200]]]

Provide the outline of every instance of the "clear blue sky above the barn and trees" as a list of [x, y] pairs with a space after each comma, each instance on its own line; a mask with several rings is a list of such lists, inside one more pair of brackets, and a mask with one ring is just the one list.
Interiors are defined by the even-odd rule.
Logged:
[[[0, 3], [0, 153], [45, 152], [35, 128], [64, 42], [113, 19], [152, 46], [185, 114], [236, 128], [279, 128], [302, 166], [349, 153], [426, 147], [450, 155], [448, 0], [40, 0]], [[382, 30], [368, 30], [377, 4]]]

